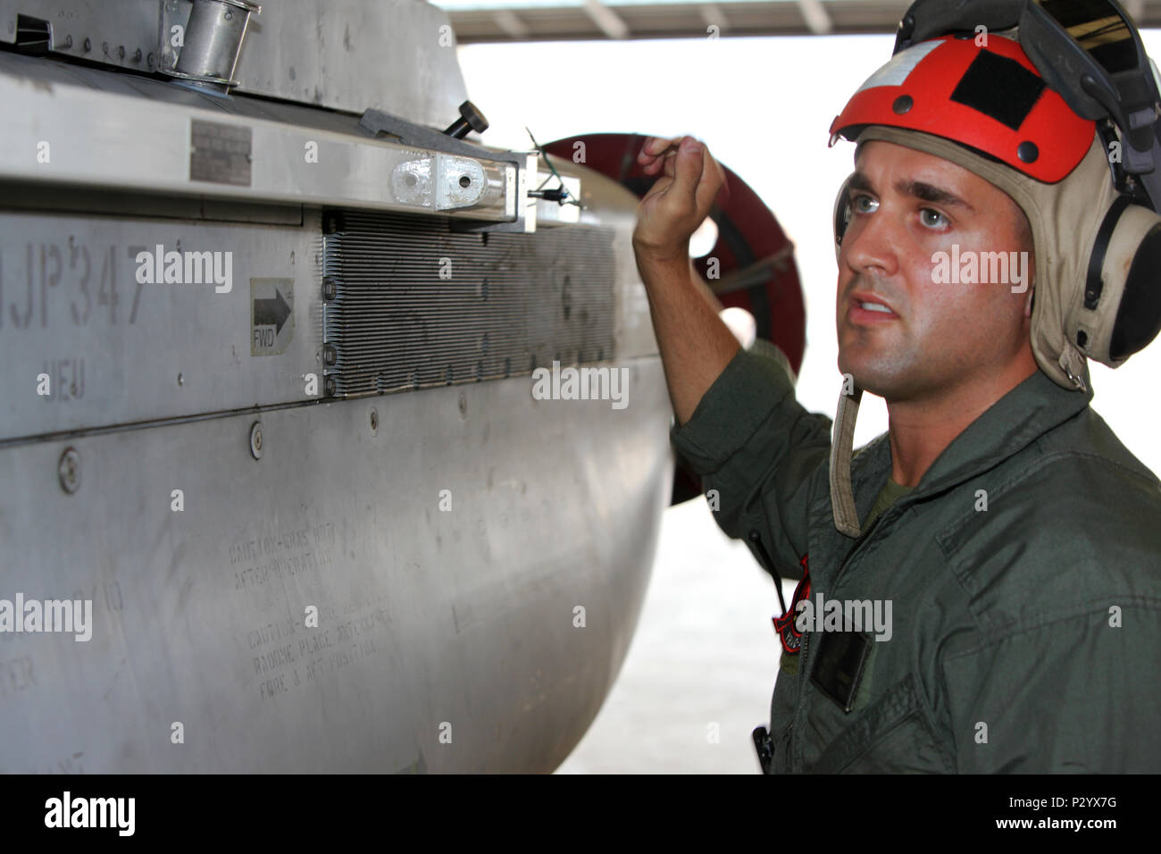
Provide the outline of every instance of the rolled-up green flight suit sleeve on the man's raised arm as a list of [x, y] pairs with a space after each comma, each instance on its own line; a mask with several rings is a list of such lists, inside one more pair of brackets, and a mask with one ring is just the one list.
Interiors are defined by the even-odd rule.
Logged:
[[831, 421], [794, 397], [786, 357], [772, 344], [738, 350], [690, 419], [670, 431], [676, 451], [701, 478], [719, 526], [747, 541], [766, 566], [750, 531], [758, 531], [774, 567], [801, 579], [813, 489], [827, 478]]

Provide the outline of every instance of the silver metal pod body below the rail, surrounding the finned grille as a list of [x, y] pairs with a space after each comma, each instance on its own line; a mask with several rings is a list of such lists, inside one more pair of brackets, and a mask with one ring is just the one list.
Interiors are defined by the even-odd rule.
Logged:
[[672, 455], [636, 202], [557, 166], [586, 208], [565, 225], [538, 202], [542, 225], [612, 230], [599, 366], [625, 376], [623, 406], [545, 400], [529, 375], [324, 399], [320, 207], [9, 174], [0, 600], [93, 610], [89, 640], [0, 632], [0, 770], [542, 772], [568, 755], [628, 648]]

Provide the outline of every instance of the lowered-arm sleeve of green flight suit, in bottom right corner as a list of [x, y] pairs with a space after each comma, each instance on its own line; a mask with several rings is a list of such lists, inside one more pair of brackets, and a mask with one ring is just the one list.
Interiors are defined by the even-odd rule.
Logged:
[[958, 770], [1161, 772], [1159, 605], [1099, 607], [949, 661]]

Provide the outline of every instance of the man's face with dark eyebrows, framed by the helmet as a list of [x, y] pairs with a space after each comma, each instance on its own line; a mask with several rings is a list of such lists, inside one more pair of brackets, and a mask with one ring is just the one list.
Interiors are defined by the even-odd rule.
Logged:
[[[950, 160], [879, 139], [860, 146], [856, 171], [838, 258], [838, 369], [893, 402], [1012, 364], [1030, 347], [1024, 308], [1033, 281], [1032, 245], [1016, 202]], [[983, 253], [1019, 259], [1021, 251], [1025, 293], [1012, 293], [1018, 267], [1004, 281], [980, 284], [996, 270], [988, 266], [995, 257]], [[969, 277], [973, 252], [985, 267], [975, 284], [939, 281], [957, 256], [956, 272]], [[875, 301], [889, 310], [865, 307]]]

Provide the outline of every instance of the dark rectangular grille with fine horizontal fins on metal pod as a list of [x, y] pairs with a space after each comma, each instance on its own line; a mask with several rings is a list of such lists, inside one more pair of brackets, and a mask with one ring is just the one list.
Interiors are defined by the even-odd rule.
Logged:
[[349, 211], [324, 211], [323, 223], [329, 395], [615, 356], [612, 229], [453, 232], [438, 217]]

